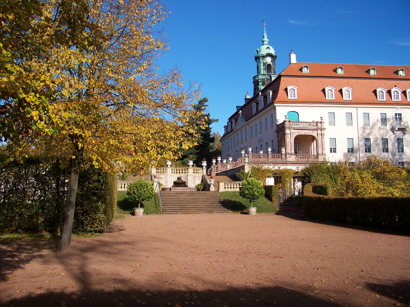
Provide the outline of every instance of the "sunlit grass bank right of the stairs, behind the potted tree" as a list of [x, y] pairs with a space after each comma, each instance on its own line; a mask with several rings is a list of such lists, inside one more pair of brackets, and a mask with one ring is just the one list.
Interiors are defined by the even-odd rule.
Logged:
[[[228, 209], [232, 212], [247, 212], [247, 207], [251, 206], [251, 203], [239, 196], [239, 191], [233, 192], [221, 192], [223, 199], [225, 200]], [[279, 209], [265, 196], [253, 202], [253, 206], [257, 207], [257, 213], [274, 213]]]

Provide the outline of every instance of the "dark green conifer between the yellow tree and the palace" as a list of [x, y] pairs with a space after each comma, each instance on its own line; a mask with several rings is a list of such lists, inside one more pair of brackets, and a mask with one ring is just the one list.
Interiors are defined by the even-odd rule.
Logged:
[[203, 113], [201, 119], [206, 123], [206, 127], [199, 127], [198, 122], [196, 121], [191, 121], [188, 123], [188, 125], [198, 126], [200, 136], [197, 139], [197, 144], [194, 147], [191, 147], [187, 150], [182, 150], [182, 157], [180, 159], [182, 165], [188, 165], [188, 160], [193, 160], [196, 166], [200, 166], [203, 158], [205, 158], [205, 160], [207, 161], [207, 165], [210, 165], [212, 157], [220, 154], [221, 152], [221, 150], [219, 150], [218, 142], [215, 143], [215, 140], [218, 141], [221, 136], [219, 135], [219, 133], [212, 133], [212, 129], [210, 127], [212, 123], [218, 122], [219, 120], [211, 118], [210, 113], [205, 113], [207, 112], [208, 107], [207, 102], [208, 98], [203, 97], [194, 105], [194, 110]]

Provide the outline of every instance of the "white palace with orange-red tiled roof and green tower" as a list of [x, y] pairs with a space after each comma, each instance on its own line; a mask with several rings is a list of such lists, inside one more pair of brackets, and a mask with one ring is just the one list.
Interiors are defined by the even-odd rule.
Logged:
[[374, 155], [405, 167], [410, 66], [298, 63], [292, 51], [289, 66], [276, 74], [268, 42], [265, 31], [253, 97], [246, 95], [228, 119], [223, 158], [251, 153], [266, 165], [298, 168]]

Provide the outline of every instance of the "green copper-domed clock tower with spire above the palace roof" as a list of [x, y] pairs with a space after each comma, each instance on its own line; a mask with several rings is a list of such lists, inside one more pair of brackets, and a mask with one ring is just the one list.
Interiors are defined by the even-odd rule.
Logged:
[[268, 36], [266, 35], [265, 24], [262, 43], [263, 45], [256, 50], [255, 61], [257, 75], [253, 77], [253, 95], [259, 93], [269, 82], [275, 79], [276, 74], [276, 58], [273, 47], [268, 45]]

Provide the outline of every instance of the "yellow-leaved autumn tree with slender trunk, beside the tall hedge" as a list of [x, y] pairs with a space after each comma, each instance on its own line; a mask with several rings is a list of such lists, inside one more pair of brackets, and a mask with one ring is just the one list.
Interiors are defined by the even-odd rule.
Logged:
[[[58, 3], [44, 2], [41, 16], [31, 20], [33, 25], [53, 18]], [[89, 28], [99, 35], [87, 27], [76, 29], [84, 37], [91, 36], [92, 43], [55, 43], [42, 56], [24, 62], [25, 70], [49, 72], [55, 90], [43, 97], [23, 93], [26, 119], [19, 124], [24, 131], [6, 138], [11, 159], [21, 159], [38, 148], [69, 161], [60, 252], [71, 249], [78, 174], [85, 155], [107, 172], [132, 172], [152, 160], [175, 160], [180, 155], [178, 149], [195, 145], [198, 129], [205, 127], [200, 120], [202, 113], [193, 109], [200, 94], [196, 85], [184, 86], [178, 69], [159, 73], [155, 64], [167, 50], [162, 30], [155, 30], [168, 14], [161, 3], [87, 3]], [[45, 80], [40, 86], [49, 85]], [[16, 98], [16, 104], [21, 99]], [[7, 112], [15, 111], [13, 103]], [[192, 120], [198, 120], [199, 125], [189, 125]]]

